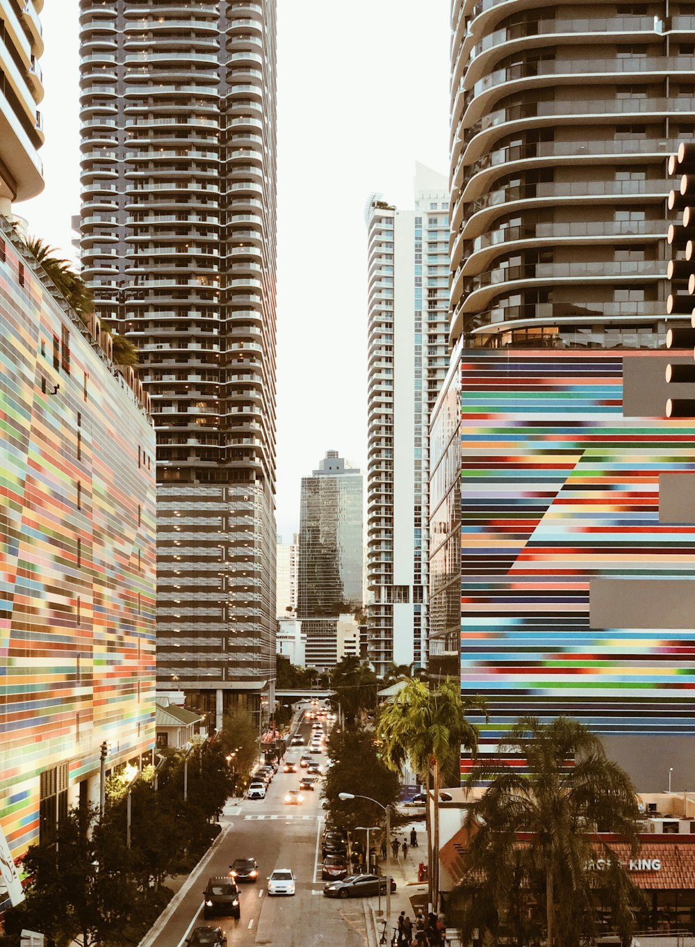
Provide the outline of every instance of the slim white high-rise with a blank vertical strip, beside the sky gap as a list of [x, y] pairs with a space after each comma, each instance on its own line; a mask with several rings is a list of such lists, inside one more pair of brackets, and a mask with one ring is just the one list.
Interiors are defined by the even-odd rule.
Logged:
[[449, 190], [416, 166], [415, 209], [368, 226], [367, 653], [426, 664], [428, 426], [449, 364]]

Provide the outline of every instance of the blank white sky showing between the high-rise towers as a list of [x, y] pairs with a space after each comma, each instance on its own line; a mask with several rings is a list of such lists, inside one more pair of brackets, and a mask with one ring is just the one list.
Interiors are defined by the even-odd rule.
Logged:
[[[371, 191], [412, 206], [416, 159], [448, 174], [449, 0], [277, 0], [277, 531], [327, 450], [365, 469]], [[45, 191], [17, 205], [73, 255], [80, 212], [78, 0], [41, 15]]]

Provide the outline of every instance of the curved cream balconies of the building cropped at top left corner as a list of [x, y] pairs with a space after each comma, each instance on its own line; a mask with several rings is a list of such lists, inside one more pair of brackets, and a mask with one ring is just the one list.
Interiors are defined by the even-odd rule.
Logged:
[[0, 214], [10, 216], [13, 201], [44, 189], [39, 149], [44, 144], [38, 105], [44, 98], [39, 57], [44, 51], [39, 13], [43, 0], [0, 5]]

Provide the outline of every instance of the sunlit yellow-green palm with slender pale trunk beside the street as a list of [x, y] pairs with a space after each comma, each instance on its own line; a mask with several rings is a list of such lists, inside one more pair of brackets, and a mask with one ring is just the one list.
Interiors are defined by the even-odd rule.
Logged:
[[410, 760], [427, 786], [430, 769], [433, 772], [435, 805], [431, 845], [429, 805], [427, 837], [430, 900], [436, 910], [439, 907], [439, 791], [443, 775], [454, 769], [458, 771], [461, 746], [473, 756], [477, 752], [478, 730], [466, 719], [466, 712], [473, 707], [485, 712], [480, 697], [462, 701], [460, 686], [451, 678], [434, 689], [411, 678], [393, 703], [383, 707], [377, 724], [377, 734], [383, 742], [383, 759], [392, 769], [401, 772], [404, 763]]

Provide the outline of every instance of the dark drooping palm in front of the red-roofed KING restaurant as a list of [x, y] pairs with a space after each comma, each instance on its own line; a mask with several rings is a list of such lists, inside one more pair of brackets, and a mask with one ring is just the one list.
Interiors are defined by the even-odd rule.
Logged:
[[[594, 932], [592, 891], [600, 883], [621, 936], [629, 938], [636, 889], [610, 841], [597, 841], [596, 833], [619, 835], [636, 850], [630, 777], [607, 759], [595, 734], [567, 717], [549, 724], [523, 717], [499, 756], [500, 762], [476, 767], [469, 779], [489, 782], [467, 815], [469, 877], [461, 890], [469, 926], [482, 926], [480, 912], [490, 914], [492, 902], [491, 923], [505, 920], [517, 942], [526, 943], [529, 904], [520, 909], [519, 892], [535, 888], [536, 901], [545, 902], [547, 947], [573, 947], [582, 933]], [[510, 766], [509, 756], [525, 759], [526, 772]], [[521, 832], [531, 840], [520, 843]], [[597, 858], [605, 865], [600, 873], [591, 870]]]

